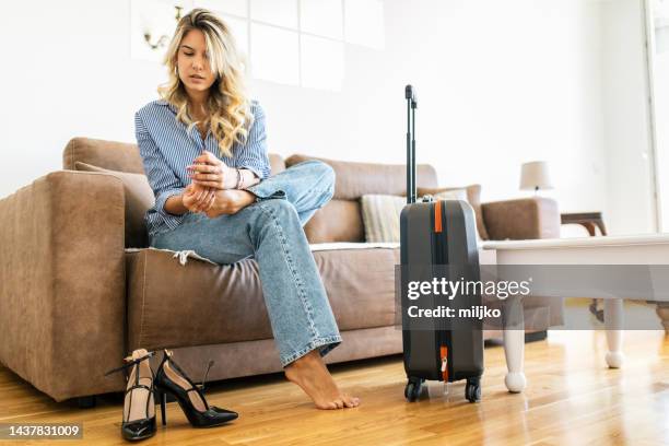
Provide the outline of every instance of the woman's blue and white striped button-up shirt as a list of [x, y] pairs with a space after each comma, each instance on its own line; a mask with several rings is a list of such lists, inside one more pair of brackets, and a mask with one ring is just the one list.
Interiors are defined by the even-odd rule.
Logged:
[[165, 211], [165, 201], [181, 193], [190, 184], [186, 166], [192, 164], [203, 150], [218, 156], [230, 167], [247, 168], [260, 179], [270, 175], [265, 133], [265, 113], [256, 102], [251, 102], [255, 120], [249, 129], [245, 144], [235, 142], [233, 156], [219, 156], [218, 141], [211, 130], [202, 140], [197, 126], [188, 131], [188, 126], [176, 119], [177, 108], [164, 99], [153, 101], [134, 114], [134, 133], [144, 173], [155, 195], [155, 206], [146, 211], [144, 221], [149, 235], [174, 230], [183, 215]]

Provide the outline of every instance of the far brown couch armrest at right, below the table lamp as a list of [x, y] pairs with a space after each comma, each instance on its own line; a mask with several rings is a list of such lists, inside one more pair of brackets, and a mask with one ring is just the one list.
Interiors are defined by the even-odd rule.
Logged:
[[550, 198], [532, 197], [481, 204], [491, 240], [559, 238], [560, 212]]

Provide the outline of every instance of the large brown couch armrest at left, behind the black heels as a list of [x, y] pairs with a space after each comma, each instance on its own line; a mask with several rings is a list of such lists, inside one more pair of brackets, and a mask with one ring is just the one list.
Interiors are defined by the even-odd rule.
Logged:
[[124, 200], [72, 171], [0, 200], [0, 362], [57, 401], [124, 388]]

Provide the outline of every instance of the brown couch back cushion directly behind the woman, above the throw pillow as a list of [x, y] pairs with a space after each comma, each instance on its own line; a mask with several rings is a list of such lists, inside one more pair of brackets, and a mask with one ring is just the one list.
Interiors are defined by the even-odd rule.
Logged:
[[[272, 175], [285, 171], [285, 163], [281, 155], [270, 153], [269, 160]], [[110, 171], [144, 173], [142, 157], [134, 143], [72, 138], [62, 152], [62, 168], [74, 171], [78, 161]]]

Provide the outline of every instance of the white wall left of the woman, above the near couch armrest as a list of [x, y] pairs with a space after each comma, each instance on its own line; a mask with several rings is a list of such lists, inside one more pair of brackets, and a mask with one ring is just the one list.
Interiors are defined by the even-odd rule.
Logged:
[[73, 137], [133, 141], [161, 70], [130, 61], [128, 1], [7, 2], [0, 197], [50, 171]]

